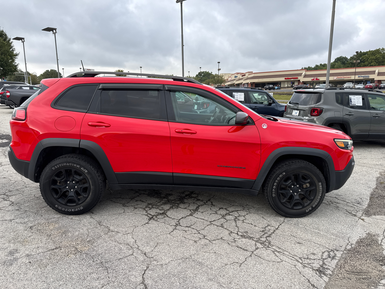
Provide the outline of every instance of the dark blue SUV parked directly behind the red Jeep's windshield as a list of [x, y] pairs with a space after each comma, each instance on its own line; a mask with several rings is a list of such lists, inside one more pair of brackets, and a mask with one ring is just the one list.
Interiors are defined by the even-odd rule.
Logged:
[[285, 104], [278, 103], [270, 94], [253, 87], [218, 86], [216, 89], [238, 100], [256, 113], [283, 117]]

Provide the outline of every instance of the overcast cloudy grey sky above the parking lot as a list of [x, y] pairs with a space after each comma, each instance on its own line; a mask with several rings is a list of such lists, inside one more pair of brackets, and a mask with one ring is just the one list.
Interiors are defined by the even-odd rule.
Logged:
[[[327, 61], [332, 0], [186, 0], [183, 2], [185, 75], [300, 69]], [[0, 26], [25, 37], [27, 68], [181, 76], [180, 4], [175, 0], [3, 1]], [[385, 1], [336, 0], [332, 60], [385, 47]], [[23, 48], [18, 62], [24, 67]]]

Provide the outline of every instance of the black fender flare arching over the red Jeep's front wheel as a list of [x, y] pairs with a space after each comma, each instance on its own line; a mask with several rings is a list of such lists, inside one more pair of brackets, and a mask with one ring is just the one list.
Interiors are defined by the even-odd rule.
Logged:
[[262, 184], [267, 174], [269, 173], [271, 167], [275, 163], [275, 161], [280, 156], [284, 156], [284, 155], [306, 155], [306, 156], [318, 156], [323, 158], [328, 164], [328, 169], [329, 169], [330, 186], [327, 192], [331, 192], [334, 190], [335, 181], [336, 181], [335, 168], [334, 168], [333, 159], [331, 158], [329, 153], [317, 148], [303, 148], [303, 147], [297, 147], [297, 146], [286, 146], [283, 148], [277, 148], [275, 151], [271, 152], [268, 158], [266, 159], [266, 161], [263, 163], [261, 170], [259, 171], [259, 174], [252, 187], [253, 190], [259, 191], [261, 189]]

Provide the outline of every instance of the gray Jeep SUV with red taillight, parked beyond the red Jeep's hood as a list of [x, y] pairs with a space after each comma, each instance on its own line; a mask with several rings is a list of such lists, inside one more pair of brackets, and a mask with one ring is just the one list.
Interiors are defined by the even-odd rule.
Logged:
[[385, 94], [347, 87], [300, 89], [283, 117], [338, 129], [353, 140], [385, 139]]

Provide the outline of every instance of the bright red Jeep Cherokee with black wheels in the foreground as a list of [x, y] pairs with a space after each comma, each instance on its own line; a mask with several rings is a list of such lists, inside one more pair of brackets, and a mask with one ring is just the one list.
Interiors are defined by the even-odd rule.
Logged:
[[107, 180], [112, 190], [262, 191], [277, 213], [303, 217], [354, 168], [341, 131], [259, 115], [185, 77], [100, 74], [115, 72], [44, 79], [12, 114], [10, 163], [57, 212], [88, 212]]

